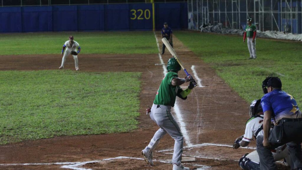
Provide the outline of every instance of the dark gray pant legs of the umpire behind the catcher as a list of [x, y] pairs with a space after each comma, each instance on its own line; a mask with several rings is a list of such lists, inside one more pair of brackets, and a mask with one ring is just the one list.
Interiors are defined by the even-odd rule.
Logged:
[[[261, 170], [277, 170], [277, 165], [275, 164], [273, 154], [269, 148], [263, 146], [263, 136], [257, 136], [257, 152], [260, 159], [260, 169]], [[302, 167], [301, 163], [301, 142], [288, 142], [286, 143], [291, 157], [291, 169]]]

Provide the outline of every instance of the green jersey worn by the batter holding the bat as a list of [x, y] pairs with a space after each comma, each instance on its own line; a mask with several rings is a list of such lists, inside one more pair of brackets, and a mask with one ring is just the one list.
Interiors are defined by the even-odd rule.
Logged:
[[177, 73], [172, 71], [166, 74], [157, 90], [154, 104], [174, 106], [177, 92], [181, 89], [179, 86], [172, 86], [171, 84], [172, 79], [176, 77], [178, 77]]

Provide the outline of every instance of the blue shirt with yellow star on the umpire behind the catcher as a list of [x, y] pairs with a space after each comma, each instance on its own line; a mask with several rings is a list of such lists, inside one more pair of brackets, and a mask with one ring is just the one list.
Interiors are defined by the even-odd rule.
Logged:
[[[266, 93], [261, 99], [263, 113], [265, 111], [272, 111], [272, 117], [278, 122], [282, 118], [300, 118], [301, 112], [296, 100], [290, 94], [282, 90], [273, 90]], [[272, 122], [274, 119], [272, 118]]]

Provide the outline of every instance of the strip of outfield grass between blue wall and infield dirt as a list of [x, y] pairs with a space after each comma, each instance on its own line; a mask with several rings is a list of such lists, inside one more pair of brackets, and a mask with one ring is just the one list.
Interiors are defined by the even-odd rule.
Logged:
[[1, 55], [60, 54], [73, 35], [81, 54], [157, 54], [152, 31], [49, 32], [1, 34]]

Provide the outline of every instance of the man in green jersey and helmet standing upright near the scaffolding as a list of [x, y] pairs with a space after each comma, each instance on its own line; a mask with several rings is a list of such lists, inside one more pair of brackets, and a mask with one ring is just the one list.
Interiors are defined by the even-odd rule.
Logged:
[[256, 59], [256, 33], [257, 28], [252, 24], [252, 18], [247, 19], [248, 25], [244, 29], [243, 42], [247, 37], [247, 47], [249, 48], [249, 59]]

